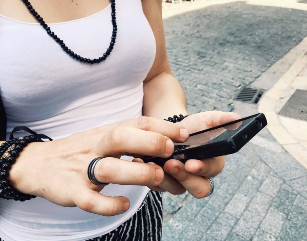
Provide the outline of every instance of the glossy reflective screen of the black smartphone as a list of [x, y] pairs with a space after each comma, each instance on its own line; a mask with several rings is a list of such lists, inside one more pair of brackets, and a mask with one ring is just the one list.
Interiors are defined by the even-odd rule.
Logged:
[[[258, 115], [259, 114], [255, 114], [252, 116], [248, 116], [242, 119], [222, 124], [220, 126], [209, 128], [207, 130], [198, 131], [196, 133], [190, 134], [190, 137], [186, 142], [174, 143], [174, 144], [177, 147], [179, 147], [179, 150], [182, 150], [196, 146], [202, 146], [208, 143], [226, 140], [235, 135], [238, 131], [244, 128], [244, 126], [255, 120], [255, 118]], [[261, 128], [261, 127], [262, 123], [260, 121], [258, 122], [256, 121], [255, 128]]]

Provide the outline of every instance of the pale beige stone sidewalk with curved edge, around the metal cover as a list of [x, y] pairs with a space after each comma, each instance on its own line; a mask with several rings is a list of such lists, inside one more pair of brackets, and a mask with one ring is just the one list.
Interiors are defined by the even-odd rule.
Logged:
[[[307, 38], [301, 45], [307, 50]], [[263, 95], [258, 109], [278, 143], [307, 168], [307, 52]]]

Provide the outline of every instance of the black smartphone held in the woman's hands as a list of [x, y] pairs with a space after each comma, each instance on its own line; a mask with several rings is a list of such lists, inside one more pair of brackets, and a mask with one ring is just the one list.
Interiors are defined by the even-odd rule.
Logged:
[[263, 113], [247, 116], [206, 130], [190, 134], [183, 143], [174, 143], [175, 151], [167, 158], [145, 156], [143, 161], [154, 162], [163, 168], [169, 159], [185, 163], [189, 159], [206, 159], [239, 151], [267, 125]]

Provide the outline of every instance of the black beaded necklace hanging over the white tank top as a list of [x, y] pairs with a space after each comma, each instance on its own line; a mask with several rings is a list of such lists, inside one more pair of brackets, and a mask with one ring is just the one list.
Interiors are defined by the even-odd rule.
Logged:
[[52, 37], [54, 39], [54, 41], [56, 41], [62, 47], [62, 49], [66, 53], [68, 53], [72, 58], [79, 60], [80, 62], [84, 62], [84, 63], [88, 63], [88, 64], [95, 64], [95, 63], [100, 63], [100, 62], [106, 60], [107, 56], [110, 55], [110, 53], [113, 49], [113, 46], [115, 44], [116, 33], [117, 33], [116, 14], [115, 14], [115, 0], [111, 0], [111, 10], [112, 10], [111, 17], [112, 17], [112, 25], [113, 25], [111, 42], [110, 42], [110, 45], [109, 45], [109, 48], [107, 49], [107, 51], [101, 57], [99, 57], [97, 59], [87, 59], [87, 58], [81, 57], [80, 55], [77, 55], [76, 53], [74, 53], [71, 49], [68, 49], [68, 47], [64, 44], [64, 41], [62, 39], [60, 39], [59, 37], [57, 37], [57, 35], [55, 33], [53, 33], [51, 31], [50, 27], [45, 23], [43, 18], [39, 14], [37, 14], [35, 9], [32, 7], [31, 3], [28, 0], [22, 0], [22, 2], [25, 3], [25, 6], [27, 6], [30, 13], [33, 14], [33, 16], [37, 19], [37, 21], [42, 25], [42, 27], [50, 35], [50, 37]]

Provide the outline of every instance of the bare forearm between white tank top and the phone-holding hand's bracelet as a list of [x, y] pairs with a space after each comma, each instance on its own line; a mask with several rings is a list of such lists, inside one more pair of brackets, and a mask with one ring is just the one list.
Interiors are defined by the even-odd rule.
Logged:
[[188, 115], [185, 93], [170, 71], [144, 83], [144, 116], [165, 119], [179, 114]]

